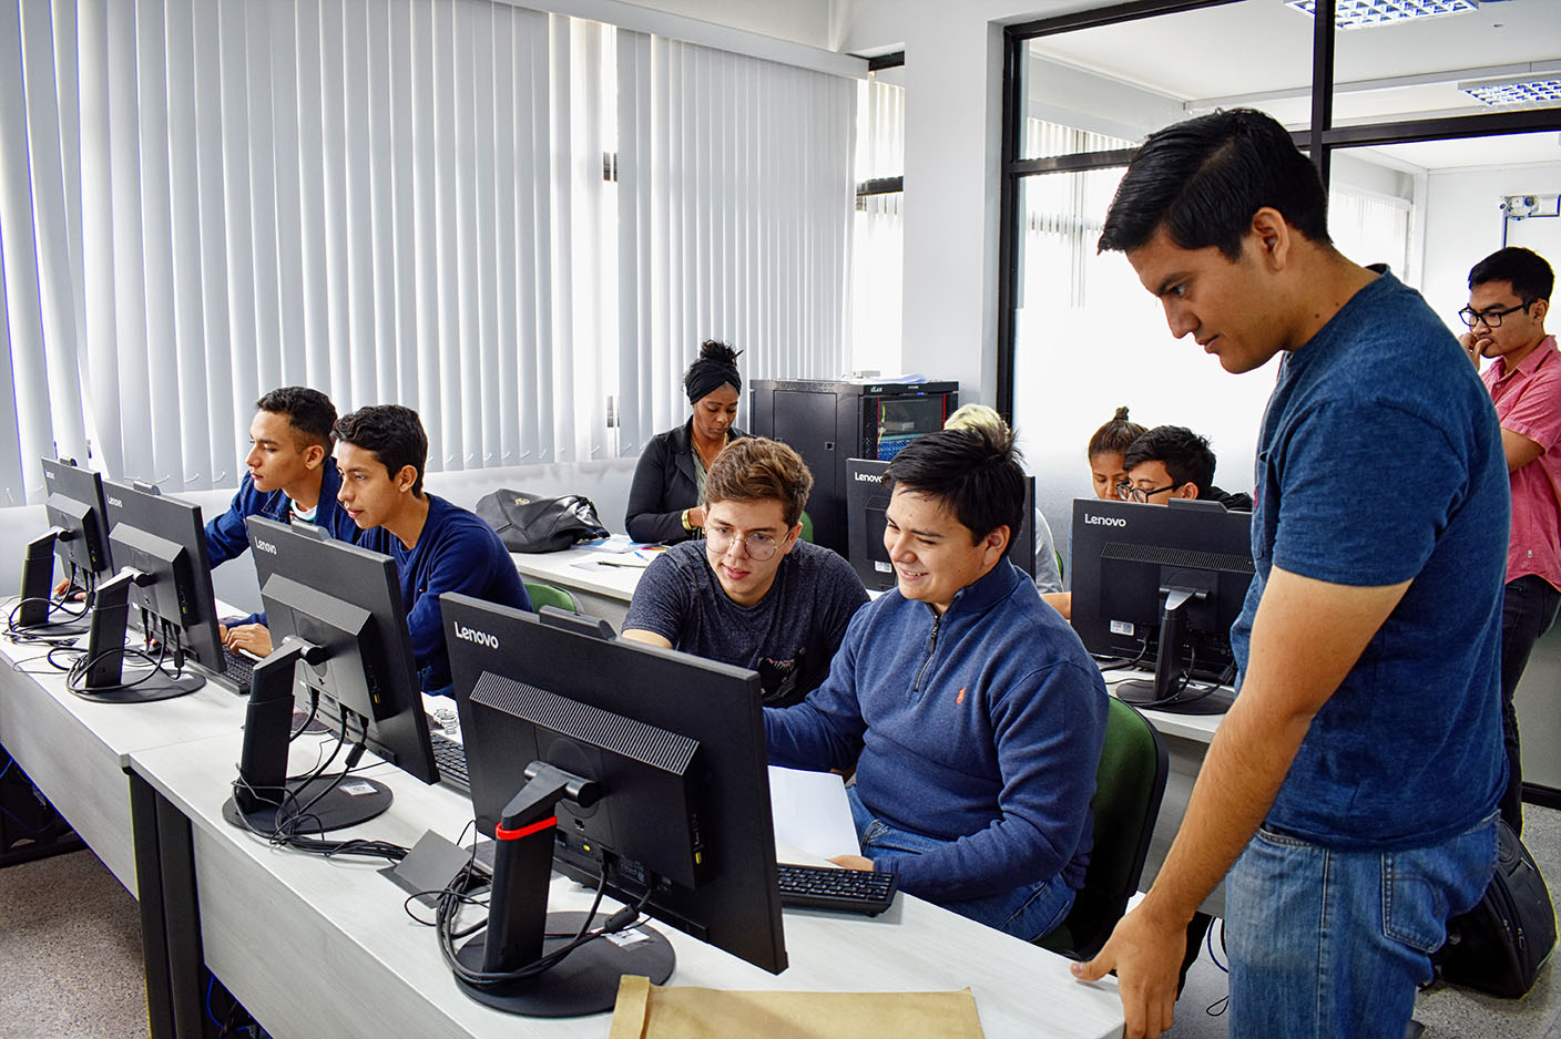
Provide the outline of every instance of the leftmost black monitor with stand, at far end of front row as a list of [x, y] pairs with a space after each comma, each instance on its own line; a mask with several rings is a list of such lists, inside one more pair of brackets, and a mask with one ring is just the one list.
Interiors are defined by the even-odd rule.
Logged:
[[16, 627], [30, 629], [30, 633], [80, 635], [87, 629], [84, 618], [50, 621], [58, 608], [53, 602], [55, 555], [72, 588], [86, 591], [91, 604], [98, 577], [111, 569], [103, 477], [70, 460], [42, 462], [48, 530], [27, 543]]

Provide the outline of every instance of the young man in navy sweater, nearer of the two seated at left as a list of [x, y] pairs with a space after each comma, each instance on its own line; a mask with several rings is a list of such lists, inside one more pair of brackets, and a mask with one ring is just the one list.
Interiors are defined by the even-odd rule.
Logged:
[[342, 509], [357, 524], [361, 546], [395, 560], [418, 683], [431, 696], [448, 696], [439, 596], [460, 591], [529, 610], [526, 585], [493, 527], [423, 493], [428, 435], [417, 412], [400, 404], [361, 407], [336, 423], [336, 438]]

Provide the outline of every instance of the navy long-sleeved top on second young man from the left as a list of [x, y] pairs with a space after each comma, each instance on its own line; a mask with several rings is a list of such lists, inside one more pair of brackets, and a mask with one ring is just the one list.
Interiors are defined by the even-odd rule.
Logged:
[[442, 593], [460, 591], [517, 610], [531, 608], [515, 560], [493, 527], [443, 498], [428, 496], [428, 520], [412, 548], [384, 527], [361, 532], [357, 543], [395, 560], [406, 626], [412, 632], [412, 657], [425, 693], [443, 691], [451, 682], [439, 612]]

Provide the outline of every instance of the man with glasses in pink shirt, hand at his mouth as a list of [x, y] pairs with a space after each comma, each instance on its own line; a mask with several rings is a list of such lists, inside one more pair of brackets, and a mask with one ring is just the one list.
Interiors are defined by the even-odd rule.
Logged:
[[1555, 273], [1524, 248], [1491, 253], [1469, 271], [1469, 306], [1458, 312], [1469, 326], [1458, 342], [1480, 374], [1502, 423], [1502, 451], [1513, 482], [1513, 534], [1506, 546], [1502, 601], [1502, 738], [1506, 743], [1506, 793], [1502, 817], [1524, 830], [1524, 774], [1513, 691], [1528, 654], [1556, 618], [1561, 604], [1561, 354], [1545, 335]]

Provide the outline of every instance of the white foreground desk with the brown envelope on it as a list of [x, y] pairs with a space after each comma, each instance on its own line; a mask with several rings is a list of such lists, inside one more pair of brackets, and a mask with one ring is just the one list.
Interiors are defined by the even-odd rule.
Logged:
[[[610, 1016], [518, 1019], [467, 998], [432, 928], [401, 910], [404, 892], [375, 864], [275, 850], [220, 817], [237, 736], [131, 755], [139, 775], [194, 830], [200, 939], [212, 973], [278, 1039], [289, 1036], [606, 1036]], [[428, 828], [456, 839], [470, 803], [393, 769], [390, 811], [356, 830], [411, 846]], [[551, 908], [588, 905], [568, 880]], [[982, 1027], [1002, 1036], [1119, 1036], [1115, 980], [1079, 984], [1066, 961], [918, 899], [877, 919], [787, 910], [790, 969], [770, 975], [657, 925], [677, 952], [671, 984], [727, 989], [927, 991], [969, 986]]]

